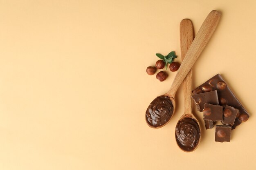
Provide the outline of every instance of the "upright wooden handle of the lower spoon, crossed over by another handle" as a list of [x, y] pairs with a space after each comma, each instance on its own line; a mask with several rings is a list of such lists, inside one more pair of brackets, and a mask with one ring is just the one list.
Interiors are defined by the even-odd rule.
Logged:
[[[180, 53], [181, 60], [185, 58], [189, 47], [191, 46], [194, 35], [193, 25], [191, 20], [184, 19], [180, 22]], [[192, 68], [183, 80], [183, 93], [184, 93], [184, 113], [192, 113], [191, 110], [191, 82], [192, 82]]]

